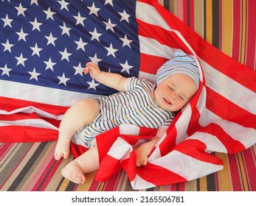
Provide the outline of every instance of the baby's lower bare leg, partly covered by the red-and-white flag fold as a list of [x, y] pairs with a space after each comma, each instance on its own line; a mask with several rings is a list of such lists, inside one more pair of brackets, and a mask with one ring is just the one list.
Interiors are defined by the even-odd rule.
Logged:
[[83, 184], [83, 182], [86, 181], [84, 174], [96, 171], [98, 168], [99, 154], [97, 152], [97, 146], [94, 146], [71, 163], [67, 164], [66, 167], [62, 169], [61, 174], [66, 179], [76, 184]]

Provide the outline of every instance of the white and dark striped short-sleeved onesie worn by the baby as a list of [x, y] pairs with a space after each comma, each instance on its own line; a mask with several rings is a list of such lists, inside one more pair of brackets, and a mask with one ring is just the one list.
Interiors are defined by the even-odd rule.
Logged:
[[95, 97], [100, 111], [94, 121], [77, 131], [76, 135], [91, 148], [96, 135], [120, 124], [156, 129], [168, 127], [173, 121], [174, 113], [163, 110], [156, 103], [153, 98], [155, 87], [147, 79], [130, 77], [125, 82], [125, 92]]

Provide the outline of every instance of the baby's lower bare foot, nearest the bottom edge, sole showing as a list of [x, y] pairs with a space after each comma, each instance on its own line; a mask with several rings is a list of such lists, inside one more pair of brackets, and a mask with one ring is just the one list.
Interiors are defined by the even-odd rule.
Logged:
[[83, 184], [83, 182], [86, 182], [86, 177], [84, 176], [79, 164], [75, 160], [67, 164], [66, 167], [62, 169], [61, 174], [66, 179], [76, 184]]

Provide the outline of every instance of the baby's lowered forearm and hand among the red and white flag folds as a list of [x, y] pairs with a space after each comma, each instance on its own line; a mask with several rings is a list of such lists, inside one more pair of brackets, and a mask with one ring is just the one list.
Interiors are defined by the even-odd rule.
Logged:
[[153, 138], [151, 141], [143, 143], [135, 150], [137, 167], [147, 165], [148, 155], [151, 154], [153, 147], [156, 146], [156, 143], [159, 141], [160, 138], [162, 138], [162, 135], [165, 134], [165, 131], [166, 129], [159, 128], [159, 132], [156, 138]]

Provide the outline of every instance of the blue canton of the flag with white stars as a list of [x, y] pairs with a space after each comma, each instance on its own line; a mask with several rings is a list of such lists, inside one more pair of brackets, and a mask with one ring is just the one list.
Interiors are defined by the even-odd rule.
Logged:
[[139, 74], [135, 1], [0, 2], [0, 79], [107, 95], [82, 69]]

